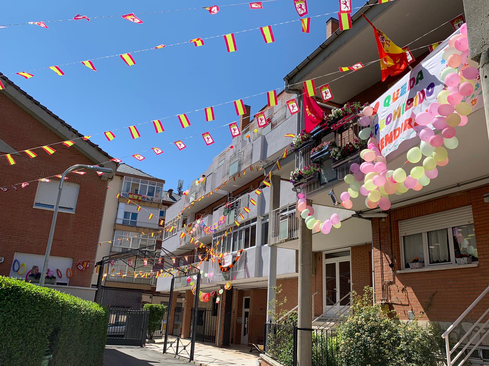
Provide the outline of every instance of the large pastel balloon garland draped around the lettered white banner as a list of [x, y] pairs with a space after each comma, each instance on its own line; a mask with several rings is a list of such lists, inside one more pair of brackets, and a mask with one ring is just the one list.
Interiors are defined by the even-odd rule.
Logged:
[[[360, 152], [360, 158], [364, 162], [352, 163], [352, 174], [344, 177], [350, 188], [340, 195], [343, 207], [352, 208], [351, 198], [358, 197], [360, 193], [365, 196], [367, 207], [378, 206], [382, 210], [388, 210], [391, 207], [389, 195], [400, 195], [409, 189], [419, 191], [438, 176], [437, 166], [448, 163], [447, 149], [452, 150], [458, 146], [455, 127], [467, 124], [467, 116], [472, 111], [472, 106], [463, 102], [463, 99], [473, 93], [474, 80], [479, 76], [479, 70], [477, 62], [470, 60], [468, 56], [467, 24], [463, 24], [460, 34], [451, 37], [448, 47], [442, 51], [447, 67], [440, 76], [445, 81], [446, 90], [438, 93], [437, 102], [431, 103], [426, 111], [415, 117], [417, 125], [422, 128], [419, 131], [421, 143], [419, 147], [413, 147], [407, 152], [406, 163], [416, 164], [422, 159], [423, 161], [414, 166], [409, 174], [403, 167], [387, 169], [385, 157], [378, 149], [378, 141], [371, 137], [372, 128], [367, 127], [372, 123], [374, 108], [363, 108], [357, 123], [367, 127], [360, 131], [359, 137], [368, 139], [368, 145], [367, 149]], [[428, 126], [430, 124], [432, 127]], [[441, 130], [441, 134], [436, 134], [434, 130]]]

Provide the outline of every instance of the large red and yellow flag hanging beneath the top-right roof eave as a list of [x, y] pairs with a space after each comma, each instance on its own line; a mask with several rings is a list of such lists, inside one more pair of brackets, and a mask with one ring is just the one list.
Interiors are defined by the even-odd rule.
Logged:
[[382, 81], [387, 79], [387, 76], [395, 76], [400, 74], [408, 67], [406, 51], [394, 44], [393, 41], [387, 37], [387, 35], [378, 30], [370, 20], [363, 15], [363, 18], [374, 29], [375, 41], [377, 43], [378, 58], [380, 61], [380, 73], [382, 75]]

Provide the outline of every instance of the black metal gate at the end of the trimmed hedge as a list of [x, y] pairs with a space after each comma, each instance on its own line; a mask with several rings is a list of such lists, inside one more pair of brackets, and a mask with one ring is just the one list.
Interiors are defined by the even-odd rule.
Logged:
[[124, 307], [109, 307], [107, 344], [115, 346], [144, 346], [149, 312]]

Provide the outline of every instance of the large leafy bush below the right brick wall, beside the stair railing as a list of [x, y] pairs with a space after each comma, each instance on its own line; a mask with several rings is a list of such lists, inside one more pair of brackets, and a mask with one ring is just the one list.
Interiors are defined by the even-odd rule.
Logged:
[[[372, 305], [373, 292], [353, 296], [353, 314], [338, 325], [339, 360], [343, 366], [432, 366], [438, 351], [437, 331], [432, 325], [399, 318]], [[391, 315], [391, 316], [389, 316]]]

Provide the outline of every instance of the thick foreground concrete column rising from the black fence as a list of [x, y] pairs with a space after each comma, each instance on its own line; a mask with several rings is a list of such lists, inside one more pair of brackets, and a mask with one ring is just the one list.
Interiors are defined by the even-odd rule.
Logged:
[[[308, 200], [308, 205], [312, 203]], [[297, 215], [299, 212], [297, 211]], [[297, 305], [299, 305], [299, 328], [312, 327], [312, 230], [306, 227], [304, 220], [299, 219], [299, 288]], [[312, 334], [310, 330], [297, 331], [297, 365], [311, 366]]]

